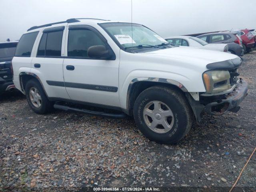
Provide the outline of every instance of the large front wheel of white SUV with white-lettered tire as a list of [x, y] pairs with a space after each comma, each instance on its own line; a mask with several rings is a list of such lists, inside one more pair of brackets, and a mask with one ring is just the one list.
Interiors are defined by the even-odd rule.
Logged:
[[[160, 103], [159, 111], [154, 112], [151, 105], [152, 102], [154, 110], [155, 105]], [[150, 110], [153, 111], [153, 115], [151, 114], [152, 111], [150, 112], [152, 118], [146, 114]], [[172, 112], [172, 117], [164, 118], [164, 115], [161, 116], [161, 114], [164, 114], [163, 111], [169, 113], [169, 110]], [[158, 112], [160, 112], [160, 116]], [[174, 88], [166, 88], [164, 86], [147, 88], [137, 97], [133, 113], [134, 120], [144, 136], [161, 144], [177, 143], [184, 138], [192, 126], [192, 110], [189, 103], [185, 96]], [[152, 122], [150, 122], [150, 118]], [[156, 124], [153, 121], [160, 122], [164, 119], [167, 119], [170, 128], [163, 130], [161, 124], [158, 124], [154, 130], [150, 128], [150, 126], [154, 127], [154, 124]], [[149, 126], [149, 124], [151, 125]], [[164, 120], [163, 124], [166, 124], [166, 120]]]

